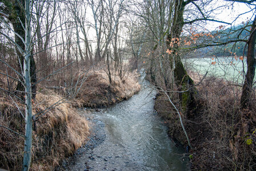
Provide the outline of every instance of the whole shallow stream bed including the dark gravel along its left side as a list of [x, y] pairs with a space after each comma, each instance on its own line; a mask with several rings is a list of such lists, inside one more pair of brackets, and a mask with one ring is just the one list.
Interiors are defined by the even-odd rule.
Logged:
[[156, 92], [148, 86], [144, 81], [139, 93], [113, 107], [81, 111], [93, 133], [65, 170], [189, 170], [185, 150], [154, 111]]

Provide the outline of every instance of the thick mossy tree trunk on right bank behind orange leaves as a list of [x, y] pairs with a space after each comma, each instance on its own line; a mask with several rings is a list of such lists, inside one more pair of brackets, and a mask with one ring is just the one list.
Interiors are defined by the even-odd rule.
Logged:
[[190, 2], [191, 1], [175, 0], [173, 23], [170, 34], [167, 36], [167, 46], [170, 47], [169, 61], [171, 67], [174, 68], [175, 84], [178, 86], [179, 91], [182, 91], [180, 100], [183, 111], [187, 113], [188, 117], [193, 117], [196, 107], [195, 95], [197, 94], [197, 89], [182, 64], [181, 52], [179, 50], [179, 40], [184, 25], [183, 12], [185, 6]]

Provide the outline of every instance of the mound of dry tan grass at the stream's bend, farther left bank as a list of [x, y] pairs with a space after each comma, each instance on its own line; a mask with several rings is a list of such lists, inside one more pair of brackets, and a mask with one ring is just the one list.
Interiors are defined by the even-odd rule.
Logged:
[[111, 78], [113, 81], [110, 85], [105, 71], [91, 72], [73, 105], [91, 108], [107, 107], [129, 99], [141, 88], [137, 72], [128, 73], [122, 80], [117, 74], [112, 74]]

